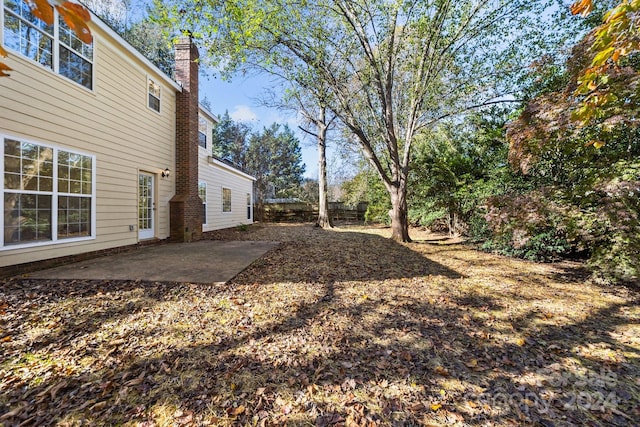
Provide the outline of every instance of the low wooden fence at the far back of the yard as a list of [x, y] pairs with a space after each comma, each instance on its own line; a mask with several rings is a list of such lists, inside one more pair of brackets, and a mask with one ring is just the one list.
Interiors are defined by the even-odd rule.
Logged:
[[[364, 221], [366, 202], [357, 206], [346, 206], [342, 202], [329, 202], [329, 215], [333, 221]], [[266, 222], [311, 222], [318, 219], [318, 205], [304, 202], [265, 203], [263, 221]]]

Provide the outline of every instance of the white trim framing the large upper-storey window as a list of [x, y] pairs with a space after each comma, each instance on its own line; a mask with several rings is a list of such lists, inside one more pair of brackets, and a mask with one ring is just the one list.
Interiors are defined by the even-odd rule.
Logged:
[[[21, 1], [21, 0], [17, 0], [17, 1]], [[51, 68], [46, 67], [44, 65], [42, 65], [41, 63], [39, 63], [38, 61], [34, 61], [33, 59], [29, 58], [28, 56], [25, 56], [22, 54], [22, 52], [14, 50], [12, 48], [10, 48], [9, 46], [5, 45], [4, 43], [4, 0], [0, 0], [0, 44], [2, 45], [2, 47], [4, 47], [8, 52], [13, 53], [16, 57], [19, 57], [25, 61], [27, 61], [29, 64], [31, 65], [35, 65], [37, 67], [40, 67], [42, 70], [46, 70], [47, 72], [53, 73], [56, 76], [58, 76], [62, 81], [67, 82], [75, 87], [84, 89], [86, 91], [89, 91], [91, 93], [95, 93], [96, 90], [96, 57], [97, 57], [97, 45], [95, 42], [95, 35], [92, 34], [93, 36], [93, 43], [92, 43], [92, 49], [93, 49], [93, 58], [90, 61], [91, 62], [91, 88], [88, 88], [78, 82], [76, 82], [75, 80], [60, 74], [60, 45], [63, 45], [65, 47], [67, 47], [64, 43], [62, 43], [60, 41], [60, 24], [59, 24], [59, 13], [58, 11], [54, 8], [53, 9], [53, 35], [51, 36], [53, 39], [53, 47], [51, 49]], [[74, 52], [75, 53], [75, 52]], [[80, 55], [82, 58], [84, 58], [82, 55]], [[86, 59], [86, 58], [85, 58]], [[80, 153], [78, 153], [80, 154]]]

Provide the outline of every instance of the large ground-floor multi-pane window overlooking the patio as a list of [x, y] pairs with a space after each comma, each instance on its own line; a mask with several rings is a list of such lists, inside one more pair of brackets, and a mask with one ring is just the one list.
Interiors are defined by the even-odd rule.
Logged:
[[3, 138], [0, 246], [92, 236], [92, 156]]

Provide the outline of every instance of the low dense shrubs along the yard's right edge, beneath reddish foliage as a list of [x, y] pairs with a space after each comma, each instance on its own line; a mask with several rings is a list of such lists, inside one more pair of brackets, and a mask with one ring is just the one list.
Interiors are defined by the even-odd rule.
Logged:
[[[629, 167], [640, 177], [640, 165]], [[640, 180], [616, 175], [572, 191], [545, 187], [490, 198], [483, 249], [537, 261], [583, 254], [597, 281], [638, 282]]]

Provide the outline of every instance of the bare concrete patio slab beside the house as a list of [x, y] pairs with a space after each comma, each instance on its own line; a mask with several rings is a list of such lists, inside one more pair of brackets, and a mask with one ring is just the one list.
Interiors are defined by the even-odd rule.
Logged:
[[203, 240], [147, 246], [29, 273], [35, 279], [225, 283], [278, 242]]

